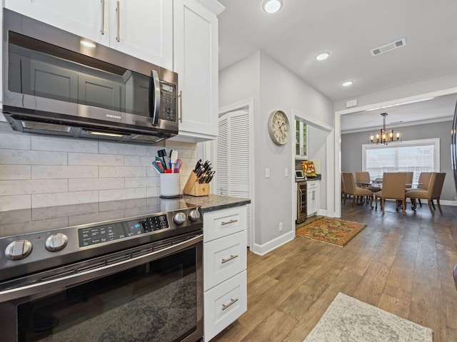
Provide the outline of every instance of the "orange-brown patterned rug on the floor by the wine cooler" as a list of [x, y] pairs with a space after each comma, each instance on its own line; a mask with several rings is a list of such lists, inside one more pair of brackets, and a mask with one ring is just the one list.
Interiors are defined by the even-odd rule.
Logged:
[[365, 227], [366, 224], [363, 223], [321, 217], [309, 224], [298, 227], [296, 234], [308, 239], [343, 247]]

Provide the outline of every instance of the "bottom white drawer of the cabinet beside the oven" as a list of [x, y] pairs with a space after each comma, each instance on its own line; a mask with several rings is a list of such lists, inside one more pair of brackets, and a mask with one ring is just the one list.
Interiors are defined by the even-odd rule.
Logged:
[[233, 323], [247, 308], [246, 271], [205, 292], [205, 341]]

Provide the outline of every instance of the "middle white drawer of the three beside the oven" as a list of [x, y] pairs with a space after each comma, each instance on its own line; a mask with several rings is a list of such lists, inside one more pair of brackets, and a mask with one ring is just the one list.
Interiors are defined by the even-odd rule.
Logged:
[[246, 269], [246, 231], [204, 244], [204, 289]]

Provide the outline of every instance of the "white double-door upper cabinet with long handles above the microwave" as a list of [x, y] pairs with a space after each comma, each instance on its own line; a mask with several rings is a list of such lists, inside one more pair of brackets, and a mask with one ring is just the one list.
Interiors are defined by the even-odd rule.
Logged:
[[173, 68], [171, 0], [5, 0], [5, 7], [164, 68]]

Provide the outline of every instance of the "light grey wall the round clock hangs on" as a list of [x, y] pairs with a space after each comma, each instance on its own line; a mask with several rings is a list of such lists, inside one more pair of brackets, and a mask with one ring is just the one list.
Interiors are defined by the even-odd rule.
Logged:
[[[295, 235], [293, 218], [293, 143], [275, 145], [268, 135], [268, 116], [283, 110], [291, 128], [292, 108], [333, 126], [333, 105], [266, 54], [257, 51], [219, 74], [219, 107], [254, 99], [254, 252], [263, 254]], [[328, 156], [333, 158], [332, 156]], [[270, 177], [265, 177], [265, 169]], [[288, 177], [284, 169], [288, 169]], [[279, 223], [283, 231], [279, 232]]]

